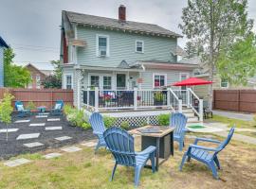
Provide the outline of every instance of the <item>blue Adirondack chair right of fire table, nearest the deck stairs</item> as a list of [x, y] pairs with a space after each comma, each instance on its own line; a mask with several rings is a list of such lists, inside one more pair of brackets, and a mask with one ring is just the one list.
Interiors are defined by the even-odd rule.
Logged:
[[172, 113], [170, 117], [170, 127], [174, 127], [174, 141], [179, 143], [179, 150], [182, 151], [184, 146], [184, 137], [186, 133], [187, 117], [180, 113]]

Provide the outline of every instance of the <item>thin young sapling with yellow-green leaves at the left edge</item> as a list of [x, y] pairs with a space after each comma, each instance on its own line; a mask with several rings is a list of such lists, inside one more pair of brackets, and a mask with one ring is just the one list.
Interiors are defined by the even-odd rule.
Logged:
[[6, 93], [4, 94], [4, 98], [0, 102], [0, 120], [5, 123], [7, 129], [7, 141], [8, 141], [8, 124], [11, 122], [11, 100], [14, 98], [13, 95]]

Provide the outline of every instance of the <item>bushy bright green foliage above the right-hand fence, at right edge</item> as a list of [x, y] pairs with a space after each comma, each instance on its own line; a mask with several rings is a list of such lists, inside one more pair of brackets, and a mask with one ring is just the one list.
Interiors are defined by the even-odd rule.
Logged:
[[256, 73], [256, 36], [251, 34], [245, 40], [237, 40], [227, 52], [221, 50], [218, 71], [230, 83], [246, 85], [247, 79]]

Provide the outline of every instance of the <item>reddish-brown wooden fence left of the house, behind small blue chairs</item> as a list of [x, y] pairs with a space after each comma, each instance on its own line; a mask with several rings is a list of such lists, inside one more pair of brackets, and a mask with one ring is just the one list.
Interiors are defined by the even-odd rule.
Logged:
[[9, 89], [0, 88], [0, 99], [4, 94], [9, 92], [14, 95], [13, 106], [16, 100], [22, 101], [25, 106], [29, 101], [32, 101], [36, 107], [46, 106], [50, 109], [54, 106], [56, 100], [64, 100], [64, 104], [73, 105], [73, 91], [64, 89]]

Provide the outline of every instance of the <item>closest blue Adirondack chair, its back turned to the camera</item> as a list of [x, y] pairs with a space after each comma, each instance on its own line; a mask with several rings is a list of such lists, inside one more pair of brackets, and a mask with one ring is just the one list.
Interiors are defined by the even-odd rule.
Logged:
[[117, 127], [106, 129], [103, 133], [106, 145], [112, 152], [116, 163], [114, 165], [111, 180], [118, 164], [135, 167], [135, 185], [138, 185], [141, 168], [151, 160], [152, 171], [155, 172], [155, 146], [148, 146], [140, 152], [135, 151], [134, 137], [126, 130]]

